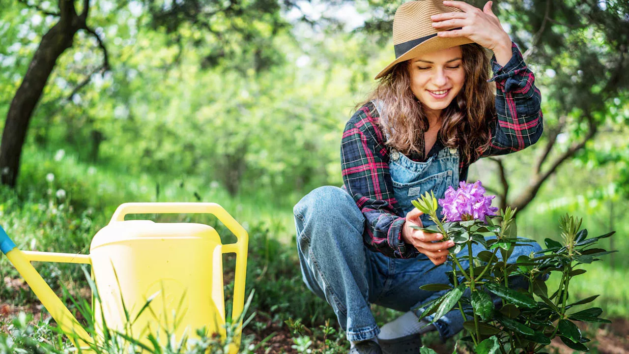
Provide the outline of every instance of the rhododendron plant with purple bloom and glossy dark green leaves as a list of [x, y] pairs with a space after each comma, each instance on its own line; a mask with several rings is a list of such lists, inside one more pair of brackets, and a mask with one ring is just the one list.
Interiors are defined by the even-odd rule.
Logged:
[[[507, 207], [497, 214], [498, 208], [491, 207], [493, 198], [486, 196], [481, 181], [476, 181], [461, 182], [457, 190], [448, 188], [445, 198], [438, 202], [428, 192], [413, 200], [413, 205], [435, 225], [411, 227], [439, 232], [443, 234], [442, 241], [452, 240], [455, 244], [448, 249], [446, 263], [452, 268], [447, 271], [450, 284], [421, 287], [427, 291], [447, 291], [420, 306], [423, 309], [420, 319], [432, 315], [434, 323], [449, 311], [460, 311], [469, 320], [463, 326], [470, 334], [462, 340], [472, 342], [476, 353], [545, 353], [545, 346], [555, 337], [573, 350], [587, 351], [589, 339], [575, 322], [610, 321], [599, 317], [603, 312], [599, 307], [575, 312], [574, 306], [587, 304], [596, 296], [569, 300], [568, 285], [571, 278], [585, 273], [577, 267], [610, 253], [594, 245], [614, 232], [588, 239], [587, 230], [580, 229], [581, 220], [566, 215], [559, 220], [560, 237], [555, 237], [564, 244], [547, 238], [545, 249], [519, 256], [516, 261], [505, 261], [516, 247], [535, 241], [518, 237], [516, 210]], [[443, 218], [437, 215], [438, 205], [443, 207]], [[473, 244], [480, 244], [485, 250], [474, 254]], [[464, 248], [467, 254], [459, 253]], [[463, 261], [468, 266], [462, 266]], [[442, 265], [433, 269], [437, 267], [443, 269]], [[555, 291], [549, 291], [545, 283], [552, 272], [561, 273]], [[509, 283], [515, 278], [523, 279], [528, 286], [520, 290], [510, 288]], [[421, 353], [434, 351], [424, 347]]]

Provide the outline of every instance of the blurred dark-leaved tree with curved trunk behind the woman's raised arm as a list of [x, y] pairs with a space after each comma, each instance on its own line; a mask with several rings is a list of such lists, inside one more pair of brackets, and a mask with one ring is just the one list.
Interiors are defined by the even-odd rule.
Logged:
[[[467, 1], [482, 8], [484, 0]], [[363, 30], [386, 38], [391, 18], [403, 1], [369, 0], [384, 9]], [[506, 205], [525, 208], [540, 187], [566, 161], [591, 146], [601, 127], [626, 125], [629, 114], [618, 106], [629, 99], [629, 2], [624, 0], [501, 0], [494, 13], [523, 50], [542, 87], [544, 139], [530, 180], [512, 181], [497, 157], [501, 190], [491, 188]], [[561, 140], [561, 141], [560, 141]], [[564, 144], [567, 141], [568, 144]], [[557, 151], [559, 150], [559, 151]], [[509, 186], [519, 194], [511, 197]]]

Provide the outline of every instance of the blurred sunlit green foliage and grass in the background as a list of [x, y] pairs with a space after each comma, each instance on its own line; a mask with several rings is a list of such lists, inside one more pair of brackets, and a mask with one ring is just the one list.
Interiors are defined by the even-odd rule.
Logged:
[[[13, 1], [0, 5], [0, 117], [6, 117], [30, 58], [54, 20]], [[369, 11], [367, 4], [356, 6]], [[90, 84], [69, 97], [101, 64], [102, 55], [96, 41], [79, 31], [74, 47], [58, 60], [31, 121], [18, 188], [0, 188], [0, 220], [9, 235], [22, 249], [87, 253], [89, 240], [120, 203], [218, 202], [250, 231], [257, 230], [254, 239], [262, 237], [252, 242], [261, 248], [253, 252], [260, 252], [260, 260], [250, 263], [248, 284], [266, 286], [262, 294], [269, 297], [259, 295], [257, 308], [285, 317], [314, 314], [313, 323], [329, 317], [318, 309], [318, 300], [290, 297], [305, 290], [298, 277], [282, 278], [278, 271], [272, 273], [275, 278], [265, 278], [270, 273], [262, 270], [296, 261], [292, 205], [317, 186], [342, 184], [343, 127], [373, 88], [374, 74], [391, 60], [391, 43], [342, 30], [342, 25], [321, 29], [289, 21], [271, 30], [265, 21], [253, 21], [248, 26], [263, 34], [257, 37], [262, 42], [236, 36], [225, 48], [229, 55], [217, 56], [216, 38], [186, 23], [176, 32], [154, 26], [135, 1], [99, 1], [89, 23], [105, 39], [112, 70], [94, 74]], [[218, 18], [214, 25], [229, 26], [230, 21]], [[574, 64], [569, 54], [554, 60], [557, 72]], [[543, 110], [569, 104], [547, 67], [531, 66]], [[538, 240], [559, 239], [558, 219], [566, 212], [583, 217], [592, 234], [616, 230], [613, 241], [604, 242], [613, 242], [606, 246], [620, 252], [587, 267], [571, 285], [580, 295], [600, 293], [594, 304], [603, 307], [605, 316], [629, 318], [629, 287], [621, 281], [629, 276], [624, 256], [629, 250], [629, 101], [626, 94], [617, 96], [602, 110], [601, 133], [560, 166], [517, 222], [521, 236]], [[584, 134], [583, 123], [568, 124], [575, 127], [557, 140], [552, 156]], [[544, 139], [503, 159], [512, 195], [528, 183]], [[54, 180], [48, 181], [47, 174]], [[469, 180], [477, 179], [499, 189], [491, 161], [472, 166]], [[40, 269], [57, 287], [80, 278], [65, 265]], [[17, 274], [0, 258], [4, 277]], [[14, 295], [2, 287], [0, 302]], [[18, 297], [29, 298], [26, 293]], [[298, 301], [295, 312], [287, 310]], [[274, 305], [288, 312], [272, 310]]]

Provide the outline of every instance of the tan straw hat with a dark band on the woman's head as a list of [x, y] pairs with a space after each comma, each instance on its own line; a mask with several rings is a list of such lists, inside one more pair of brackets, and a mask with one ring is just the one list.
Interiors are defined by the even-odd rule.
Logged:
[[437, 30], [432, 26], [430, 16], [438, 13], [461, 11], [452, 6], [445, 6], [440, 0], [414, 0], [404, 3], [395, 12], [393, 18], [393, 48], [396, 59], [384, 68], [375, 79], [384, 76], [395, 64], [413, 59], [421, 54], [447, 49], [457, 45], [473, 43], [467, 37], [442, 38], [438, 31], [449, 31], [456, 28]]

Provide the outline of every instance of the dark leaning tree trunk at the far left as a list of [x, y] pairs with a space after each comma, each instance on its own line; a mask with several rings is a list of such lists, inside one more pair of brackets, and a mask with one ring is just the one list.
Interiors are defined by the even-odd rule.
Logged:
[[74, 12], [74, 4], [71, 6], [71, 11], [65, 12], [67, 16], [64, 16], [62, 11], [58, 23], [42, 37], [42, 42], [35, 51], [24, 79], [9, 106], [0, 144], [0, 182], [4, 185], [11, 187], [16, 185], [19, 159], [33, 110], [42, 96], [57, 58], [72, 47], [74, 34], [81, 28], [79, 23], [81, 19]]

